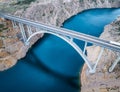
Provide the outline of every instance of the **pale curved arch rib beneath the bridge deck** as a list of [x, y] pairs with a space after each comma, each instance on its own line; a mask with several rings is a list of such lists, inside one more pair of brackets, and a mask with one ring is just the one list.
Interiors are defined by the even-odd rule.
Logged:
[[95, 69], [92, 68], [92, 64], [90, 63], [90, 61], [87, 59], [86, 55], [83, 53], [83, 51], [80, 49], [80, 47], [73, 41], [73, 38], [72, 37], [67, 37], [67, 36], [64, 36], [64, 35], [59, 35], [57, 33], [53, 33], [53, 32], [50, 32], [50, 31], [37, 31], [35, 33], [33, 33], [32, 35], [30, 35], [30, 37], [27, 39], [26, 43], [29, 43], [30, 39], [34, 36], [36, 36], [37, 34], [42, 34], [42, 33], [48, 33], [48, 34], [52, 34], [52, 35], [55, 35], [59, 38], [61, 38], [62, 40], [64, 40], [65, 42], [67, 42], [70, 46], [72, 46], [76, 51], [77, 53], [83, 58], [83, 60], [85, 61], [85, 63], [88, 65], [89, 67], [89, 71], [91, 73], [95, 73]]

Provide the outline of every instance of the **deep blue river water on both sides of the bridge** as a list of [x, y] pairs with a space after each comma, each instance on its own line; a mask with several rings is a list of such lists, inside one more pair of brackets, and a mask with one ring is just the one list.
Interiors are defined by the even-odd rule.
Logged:
[[[63, 27], [99, 36], [120, 9], [93, 9], [73, 16]], [[83, 48], [84, 42], [75, 40]], [[84, 61], [67, 43], [46, 34], [11, 69], [0, 72], [0, 92], [79, 92]]]

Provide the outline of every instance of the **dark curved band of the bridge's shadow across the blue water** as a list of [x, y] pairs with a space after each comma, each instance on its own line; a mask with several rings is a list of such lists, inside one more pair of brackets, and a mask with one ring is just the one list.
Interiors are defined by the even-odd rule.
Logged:
[[[34, 53], [32, 51], [30, 51], [30, 55], [31, 56], [26, 56], [26, 61], [28, 61], [28, 64], [30, 64], [32, 67], [35, 67], [37, 69], [42, 70], [43, 72], [54, 76], [58, 79], [60, 79], [61, 81], [64, 81], [66, 83], [68, 83], [68, 85], [70, 85], [71, 87], [75, 88], [75, 89], [80, 89], [80, 85], [78, 83], [75, 83], [75, 80], [79, 80], [79, 76], [78, 77], [68, 77], [68, 76], [64, 76], [60, 73], [57, 73], [55, 71], [53, 71], [52, 69], [50, 69], [49, 67], [47, 67], [45, 64], [43, 64], [37, 57], [36, 55], [34, 55]], [[31, 59], [34, 57], [34, 60]]]

